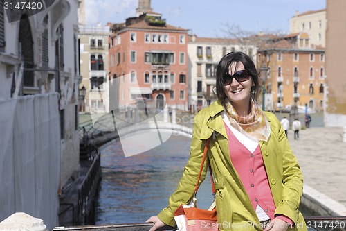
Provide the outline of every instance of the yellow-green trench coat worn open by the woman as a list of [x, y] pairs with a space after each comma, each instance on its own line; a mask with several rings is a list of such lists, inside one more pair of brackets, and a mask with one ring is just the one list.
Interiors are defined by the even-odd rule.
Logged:
[[[175, 225], [174, 211], [181, 204], [188, 204], [194, 194], [199, 167], [206, 139], [212, 137], [208, 158], [215, 176], [217, 220], [219, 230], [262, 230], [255, 209], [246, 194], [237, 171], [230, 160], [228, 138], [220, 112], [219, 101], [201, 110], [194, 118], [190, 158], [183, 171], [176, 191], [170, 196], [169, 205], [158, 218], [167, 225]], [[271, 112], [264, 112], [271, 126], [268, 141], [260, 141], [266, 173], [276, 206], [275, 215], [283, 214], [295, 222], [289, 230], [307, 230], [298, 207], [302, 196], [302, 172], [291, 151], [280, 121]], [[206, 178], [205, 163], [201, 182]], [[200, 182], [200, 183], [201, 183]]]

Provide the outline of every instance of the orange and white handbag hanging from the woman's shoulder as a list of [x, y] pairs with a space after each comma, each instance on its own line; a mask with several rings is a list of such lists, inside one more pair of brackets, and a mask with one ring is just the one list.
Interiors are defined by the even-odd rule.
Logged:
[[[174, 220], [176, 221], [177, 230], [179, 231], [217, 231], [217, 212], [215, 207], [215, 200], [209, 209], [199, 209], [197, 208], [196, 194], [198, 191], [198, 182], [201, 178], [201, 173], [203, 169], [204, 162], [206, 160], [208, 146], [210, 138], [206, 141], [206, 146], [204, 147], [203, 158], [201, 162], [201, 168], [199, 169], [199, 176], [197, 179], [196, 187], [194, 188], [194, 198], [190, 205], [180, 205], [174, 212]], [[210, 178], [212, 182], [212, 194], [215, 196], [215, 185], [212, 178], [212, 169], [210, 164], [208, 164]]]

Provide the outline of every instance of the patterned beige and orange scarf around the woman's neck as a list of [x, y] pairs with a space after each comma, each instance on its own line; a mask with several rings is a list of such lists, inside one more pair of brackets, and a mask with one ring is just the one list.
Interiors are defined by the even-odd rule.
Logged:
[[251, 112], [246, 117], [240, 117], [229, 99], [226, 99], [225, 109], [230, 125], [246, 137], [255, 141], [267, 141], [271, 135], [271, 127], [264, 112], [255, 101], [251, 101]]

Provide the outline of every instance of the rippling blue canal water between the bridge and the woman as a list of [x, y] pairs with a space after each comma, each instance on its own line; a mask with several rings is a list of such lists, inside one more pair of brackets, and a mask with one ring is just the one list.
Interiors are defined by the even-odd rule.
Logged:
[[[187, 137], [172, 135], [161, 146], [132, 157], [125, 157], [118, 141], [103, 146], [96, 224], [143, 223], [158, 214], [181, 178], [190, 142]], [[201, 208], [212, 203], [209, 178], [197, 198]]]

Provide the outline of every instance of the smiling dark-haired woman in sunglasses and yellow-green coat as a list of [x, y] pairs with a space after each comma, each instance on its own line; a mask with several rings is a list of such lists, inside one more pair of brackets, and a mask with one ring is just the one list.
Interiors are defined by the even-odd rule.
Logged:
[[[307, 230], [299, 212], [302, 173], [280, 121], [256, 102], [259, 78], [242, 52], [224, 56], [217, 66], [218, 101], [194, 119], [190, 157], [168, 207], [150, 231], [174, 226], [174, 211], [194, 194], [206, 139], [215, 176], [219, 230]], [[206, 176], [207, 164], [203, 169]]]

